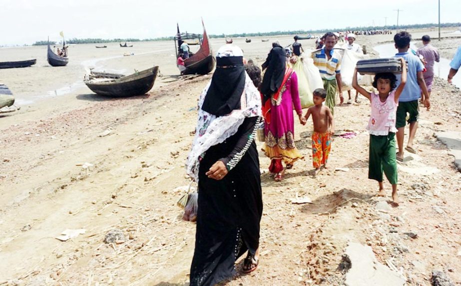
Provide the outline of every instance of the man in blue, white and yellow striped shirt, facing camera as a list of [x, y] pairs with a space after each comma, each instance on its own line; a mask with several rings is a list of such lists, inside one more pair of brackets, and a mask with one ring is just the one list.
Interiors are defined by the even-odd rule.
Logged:
[[333, 49], [336, 44], [336, 36], [334, 33], [328, 32], [323, 37], [325, 38], [325, 46], [313, 52], [311, 57], [314, 59], [315, 66], [319, 68], [323, 86], [327, 91], [325, 105], [334, 113], [334, 107], [336, 105], [336, 87], [338, 87], [339, 90], [341, 104], [343, 104], [344, 101], [343, 92], [341, 90], [341, 54]]

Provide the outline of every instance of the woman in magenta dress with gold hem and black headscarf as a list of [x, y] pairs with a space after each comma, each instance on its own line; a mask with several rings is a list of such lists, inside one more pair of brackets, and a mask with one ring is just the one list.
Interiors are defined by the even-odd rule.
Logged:
[[287, 66], [285, 51], [278, 43], [273, 44], [262, 67], [263, 70], [267, 68], [261, 84], [266, 137], [263, 151], [271, 158], [269, 171], [275, 174], [276, 181], [281, 181], [284, 171], [282, 160], [287, 169], [291, 169], [296, 160], [303, 158], [294, 140], [293, 106], [302, 122], [298, 78]]

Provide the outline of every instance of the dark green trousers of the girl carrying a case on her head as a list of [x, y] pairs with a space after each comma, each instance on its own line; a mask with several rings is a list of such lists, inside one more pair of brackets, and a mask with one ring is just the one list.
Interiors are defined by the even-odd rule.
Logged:
[[368, 178], [383, 182], [383, 171], [391, 184], [397, 184], [396, 134], [370, 135]]

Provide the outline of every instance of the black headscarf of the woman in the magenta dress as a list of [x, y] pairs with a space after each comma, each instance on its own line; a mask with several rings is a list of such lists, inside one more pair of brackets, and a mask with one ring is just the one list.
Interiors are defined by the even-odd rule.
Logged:
[[274, 45], [266, 61], [262, 64], [264, 73], [263, 82], [261, 84], [261, 93], [264, 95], [264, 101], [271, 98], [282, 85], [285, 76], [285, 68], [287, 64], [287, 56], [285, 50], [280, 45]]

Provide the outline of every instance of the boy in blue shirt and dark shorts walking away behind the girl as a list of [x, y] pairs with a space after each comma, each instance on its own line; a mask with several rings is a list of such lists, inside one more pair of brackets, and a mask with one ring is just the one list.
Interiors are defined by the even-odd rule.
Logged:
[[[395, 57], [403, 57], [408, 62], [407, 84], [399, 97], [399, 107], [397, 107], [397, 145], [399, 152], [397, 153], [397, 161], [404, 161], [404, 133], [406, 125], [406, 117], [409, 114], [407, 122], [410, 125], [410, 133], [408, 138], [407, 150], [410, 153], [416, 153], [413, 148], [413, 139], [415, 139], [416, 130], [418, 129], [419, 106], [418, 99], [421, 97], [421, 91], [424, 94], [424, 106], [429, 110], [431, 102], [429, 93], [424, 81], [423, 70], [424, 65], [420, 58], [409, 52], [410, 41], [412, 35], [407, 31], [401, 31], [394, 36], [394, 42], [399, 51]], [[397, 75], [397, 86], [400, 85], [401, 75]]]

